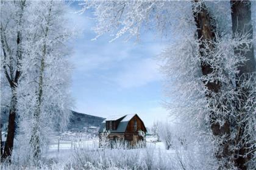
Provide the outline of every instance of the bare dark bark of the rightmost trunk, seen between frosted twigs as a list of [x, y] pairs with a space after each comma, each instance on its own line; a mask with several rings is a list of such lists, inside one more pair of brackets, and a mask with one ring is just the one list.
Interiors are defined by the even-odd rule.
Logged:
[[[249, 33], [248, 39], [252, 40], [253, 30], [251, 23], [251, 2], [230, 1], [230, 4], [232, 10], [231, 15], [233, 36], [241, 36]], [[253, 42], [251, 42], [249, 49], [245, 51], [243, 49], [246, 49], [246, 46], [247, 45], [244, 43], [241, 44], [240, 47], [235, 47], [234, 49], [235, 55], [241, 55], [246, 58], [246, 61], [244, 61], [244, 63], [240, 63], [240, 66], [238, 66], [238, 70], [240, 72], [238, 73], [238, 75], [236, 75], [236, 80], [240, 80], [236, 81], [236, 87], [241, 90], [241, 105], [236, 107], [239, 119], [243, 119], [243, 117], [245, 117], [244, 114], [250, 114], [244, 110], [244, 106], [247, 103], [250, 89], [246, 87], [241, 87], [241, 83], [243, 83], [244, 81], [250, 81], [251, 77], [253, 77], [252, 79], [255, 80], [255, 58]], [[247, 121], [241, 123], [240, 126], [238, 126], [238, 134], [236, 135], [236, 142], [242, 141], [242, 143], [245, 143], [243, 146], [240, 146], [238, 149], [235, 150], [235, 166], [240, 169], [247, 169], [246, 163], [247, 161], [251, 160], [252, 152], [255, 152], [251, 147], [254, 143], [250, 142], [249, 140], [249, 136], [251, 134], [248, 134], [246, 135], [246, 137], [244, 137], [246, 124]]]

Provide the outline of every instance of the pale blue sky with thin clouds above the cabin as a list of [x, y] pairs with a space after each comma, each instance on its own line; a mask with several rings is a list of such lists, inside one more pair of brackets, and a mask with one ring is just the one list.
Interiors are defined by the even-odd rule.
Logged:
[[[70, 12], [77, 9], [73, 5]], [[69, 13], [71, 24], [83, 30], [73, 42], [70, 59], [74, 65], [74, 110], [100, 117], [138, 114], [146, 126], [165, 120], [168, 112], [162, 106], [163, 76], [156, 59], [165, 48], [165, 39], [148, 32], [136, 43], [122, 38], [109, 42], [109, 35], [92, 41], [95, 21], [89, 15]]]

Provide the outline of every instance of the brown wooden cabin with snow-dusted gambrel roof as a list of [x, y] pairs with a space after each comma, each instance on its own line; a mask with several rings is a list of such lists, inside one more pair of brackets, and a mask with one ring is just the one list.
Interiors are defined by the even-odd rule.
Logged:
[[141, 130], [146, 134], [146, 127], [137, 114], [119, 115], [105, 119], [99, 129], [100, 143], [104, 129], [110, 132], [108, 135], [110, 143], [116, 140], [127, 141], [130, 146], [135, 146], [137, 141], [144, 140], [141, 135], [138, 135], [138, 131]]

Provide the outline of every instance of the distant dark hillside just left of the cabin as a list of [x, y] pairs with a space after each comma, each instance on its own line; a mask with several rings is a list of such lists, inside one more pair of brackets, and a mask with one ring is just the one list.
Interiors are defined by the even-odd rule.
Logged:
[[105, 118], [96, 117], [93, 115], [82, 114], [79, 112], [72, 111], [72, 117], [69, 122], [68, 130], [69, 131], [84, 131], [84, 127], [90, 126], [101, 126], [102, 121]]

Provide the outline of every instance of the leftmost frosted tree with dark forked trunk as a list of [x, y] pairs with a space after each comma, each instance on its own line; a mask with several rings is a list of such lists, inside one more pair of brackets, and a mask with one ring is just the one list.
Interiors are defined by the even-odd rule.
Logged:
[[[26, 44], [24, 42], [24, 39], [26, 39], [24, 28], [27, 24], [24, 21], [26, 5], [26, 0], [1, 1], [1, 96], [7, 97], [6, 101], [3, 101], [6, 103], [2, 104], [1, 100], [1, 106], [7, 105], [9, 109], [7, 139], [2, 155], [4, 158], [10, 156], [13, 149], [17, 109], [16, 88], [21, 77], [21, 60], [24, 58], [23, 44]], [[2, 78], [3, 75], [6, 78], [5, 80]], [[6, 84], [8, 84], [8, 87], [3, 87]]]

